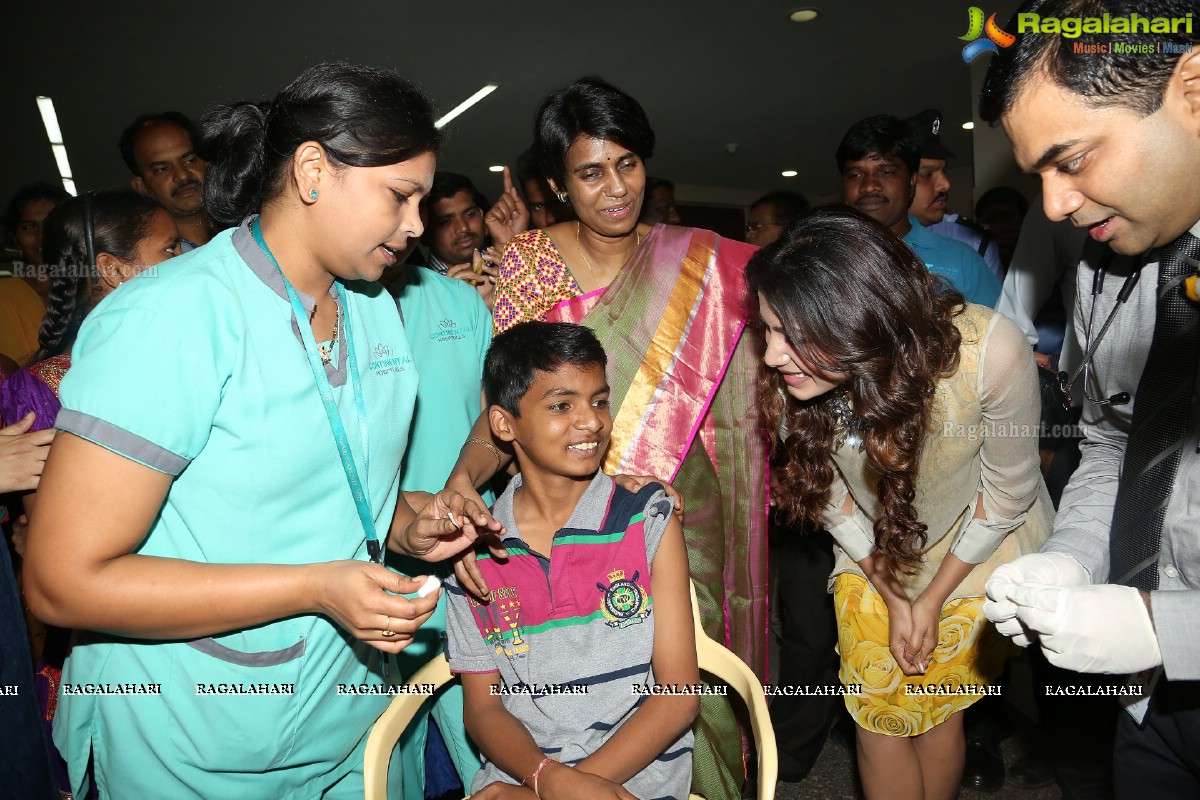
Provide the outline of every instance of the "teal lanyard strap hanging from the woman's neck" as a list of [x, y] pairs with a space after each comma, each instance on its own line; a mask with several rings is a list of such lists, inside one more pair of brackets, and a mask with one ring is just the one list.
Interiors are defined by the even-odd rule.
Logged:
[[[354, 505], [359, 512], [359, 522], [362, 523], [367, 553], [370, 553], [372, 561], [380, 564], [383, 561], [383, 551], [379, 547], [379, 539], [376, 536], [374, 518], [371, 515], [371, 495], [366, 483], [359, 479], [359, 469], [354, 463], [354, 453], [350, 452], [349, 437], [346, 435], [342, 415], [338, 414], [337, 405], [334, 402], [334, 387], [329, 384], [329, 378], [325, 375], [325, 367], [322, 366], [320, 360], [317, 357], [317, 342], [312, 333], [312, 325], [308, 323], [308, 314], [305, 313], [296, 290], [292, 288], [292, 283], [283, 275], [283, 270], [275, 259], [275, 254], [271, 253], [271, 248], [266, 246], [266, 240], [263, 239], [263, 230], [258, 224], [258, 219], [254, 219], [250, 224], [250, 231], [283, 279], [283, 288], [287, 289], [288, 300], [292, 302], [292, 313], [295, 315], [296, 327], [300, 329], [300, 338], [304, 341], [305, 355], [308, 356], [308, 366], [312, 368], [312, 377], [317, 381], [317, 391], [320, 393], [320, 402], [325, 407], [325, 416], [329, 417], [329, 428], [332, 431], [334, 441], [337, 444], [337, 455], [342, 459], [342, 470], [346, 473], [346, 481], [350, 485], [350, 493], [354, 495]], [[367, 450], [367, 414], [362, 401], [362, 380], [359, 378], [359, 362], [354, 353], [354, 336], [350, 332], [350, 308], [346, 302], [346, 290], [342, 288], [342, 284], [335, 281], [334, 285], [337, 288], [337, 299], [342, 303], [342, 327], [346, 330], [343, 336], [346, 341], [346, 360], [349, 362], [350, 368], [354, 407], [359, 413], [359, 437], [362, 441], [364, 459], [362, 474], [367, 475], [367, 470], [371, 467], [370, 450]]]

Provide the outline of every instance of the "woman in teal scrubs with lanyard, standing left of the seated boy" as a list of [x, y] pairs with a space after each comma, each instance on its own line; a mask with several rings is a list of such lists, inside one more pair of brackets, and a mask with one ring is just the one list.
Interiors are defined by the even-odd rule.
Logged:
[[438, 599], [380, 547], [499, 528], [400, 489], [419, 377], [373, 281], [421, 234], [439, 134], [396, 76], [318, 65], [205, 139], [232, 229], [106, 299], [61, 387], [25, 563], [34, 613], [80, 631], [55, 741], [101, 796], [361, 798], [377, 690]]

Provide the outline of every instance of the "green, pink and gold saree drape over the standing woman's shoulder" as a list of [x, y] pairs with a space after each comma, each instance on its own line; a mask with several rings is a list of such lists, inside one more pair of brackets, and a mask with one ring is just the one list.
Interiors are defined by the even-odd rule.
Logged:
[[[656, 225], [606, 290], [564, 300], [545, 319], [584, 324], [604, 344], [613, 409], [605, 471], [688, 485], [704, 627], [764, 674], [767, 445], [743, 337], [754, 249]], [[710, 467], [684, 470], [697, 458]]]

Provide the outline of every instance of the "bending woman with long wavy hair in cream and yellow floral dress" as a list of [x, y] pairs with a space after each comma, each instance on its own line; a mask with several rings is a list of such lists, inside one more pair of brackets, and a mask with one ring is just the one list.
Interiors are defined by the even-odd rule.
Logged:
[[962, 710], [1008, 655], [983, 616], [991, 571], [1037, 552], [1033, 354], [905, 243], [850, 209], [816, 211], [751, 258], [761, 396], [779, 506], [829, 529], [846, 706], [868, 798], [953, 798]]

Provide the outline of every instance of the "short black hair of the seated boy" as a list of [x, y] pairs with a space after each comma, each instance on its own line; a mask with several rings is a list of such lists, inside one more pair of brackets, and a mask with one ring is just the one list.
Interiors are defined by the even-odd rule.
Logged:
[[521, 323], [492, 339], [484, 360], [484, 396], [521, 417], [521, 398], [536, 372], [556, 372], [564, 366], [578, 369], [608, 366], [608, 356], [590, 327], [572, 323]]

